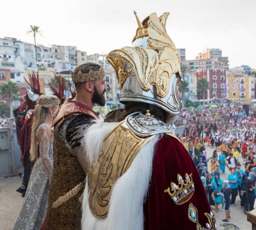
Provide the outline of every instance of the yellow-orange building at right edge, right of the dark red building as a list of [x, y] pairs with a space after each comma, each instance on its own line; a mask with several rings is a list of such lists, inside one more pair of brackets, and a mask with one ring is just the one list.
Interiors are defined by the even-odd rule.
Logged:
[[250, 104], [255, 98], [255, 78], [242, 73], [228, 75], [228, 99], [234, 103]]

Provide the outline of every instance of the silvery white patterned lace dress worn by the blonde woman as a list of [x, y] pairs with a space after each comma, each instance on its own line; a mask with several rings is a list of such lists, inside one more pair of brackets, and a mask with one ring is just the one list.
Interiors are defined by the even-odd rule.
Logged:
[[13, 230], [40, 230], [47, 213], [48, 194], [47, 187], [52, 175], [53, 165], [53, 137], [49, 142], [46, 129], [51, 127], [41, 124], [37, 128], [44, 129], [41, 142], [39, 143], [40, 157], [35, 161], [28, 182], [24, 202], [13, 227]]

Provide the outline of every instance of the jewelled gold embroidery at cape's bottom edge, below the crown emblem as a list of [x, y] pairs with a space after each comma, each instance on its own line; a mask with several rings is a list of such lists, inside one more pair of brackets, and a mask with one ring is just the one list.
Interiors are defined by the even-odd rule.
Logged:
[[213, 215], [212, 211], [210, 213], [205, 212], [204, 215], [208, 219], [208, 222], [205, 224], [205, 227], [203, 227], [198, 222], [197, 208], [192, 203], [189, 204], [188, 219], [191, 220], [193, 223], [197, 224], [197, 230], [216, 230], [215, 216]]

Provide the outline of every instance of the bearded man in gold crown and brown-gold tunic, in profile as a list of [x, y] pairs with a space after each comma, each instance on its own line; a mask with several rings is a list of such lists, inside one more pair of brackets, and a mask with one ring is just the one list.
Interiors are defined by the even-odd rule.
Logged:
[[[81, 229], [81, 203], [86, 177], [83, 131], [97, 118], [95, 103], [105, 105], [105, 72], [96, 63], [85, 62], [71, 73], [75, 98], [68, 99], [57, 111], [54, 126], [54, 165], [49, 194], [46, 229]], [[70, 196], [70, 194], [75, 194]], [[63, 203], [64, 202], [64, 203]], [[58, 220], [58, 221], [56, 221]]]

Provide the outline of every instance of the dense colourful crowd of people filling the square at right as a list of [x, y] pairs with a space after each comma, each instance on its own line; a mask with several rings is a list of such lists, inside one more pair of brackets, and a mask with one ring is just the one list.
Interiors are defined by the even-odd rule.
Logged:
[[[238, 195], [239, 206], [245, 214], [255, 208], [254, 106], [251, 105], [247, 112], [240, 104], [228, 103], [200, 111], [184, 109], [178, 119], [185, 120], [185, 129], [177, 136], [198, 168], [209, 204], [215, 206], [215, 212], [222, 204], [226, 213], [223, 222], [229, 222], [229, 206], [234, 206]], [[208, 158], [206, 146], [212, 149]], [[221, 174], [226, 176], [224, 181]]]

